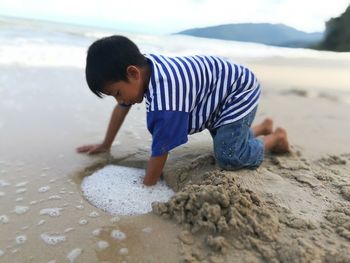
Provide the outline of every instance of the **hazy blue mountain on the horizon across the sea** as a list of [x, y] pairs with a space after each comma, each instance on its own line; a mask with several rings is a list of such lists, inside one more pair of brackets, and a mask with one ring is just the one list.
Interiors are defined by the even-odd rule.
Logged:
[[319, 42], [323, 33], [306, 33], [283, 24], [242, 23], [193, 28], [177, 34], [284, 47], [308, 47]]

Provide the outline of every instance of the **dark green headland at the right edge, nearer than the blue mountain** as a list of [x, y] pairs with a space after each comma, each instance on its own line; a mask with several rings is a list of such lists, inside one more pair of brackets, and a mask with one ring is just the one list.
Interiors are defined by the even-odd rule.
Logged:
[[326, 22], [325, 38], [320, 49], [350, 51], [350, 5], [339, 17]]

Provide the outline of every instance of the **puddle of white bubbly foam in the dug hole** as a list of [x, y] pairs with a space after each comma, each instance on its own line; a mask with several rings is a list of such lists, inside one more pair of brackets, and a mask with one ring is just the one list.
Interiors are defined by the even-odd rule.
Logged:
[[94, 206], [113, 215], [138, 215], [152, 211], [152, 202], [166, 202], [174, 195], [164, 182], [142, 183], [145, 171], [107, 165], [83, 179], [81, 189]]

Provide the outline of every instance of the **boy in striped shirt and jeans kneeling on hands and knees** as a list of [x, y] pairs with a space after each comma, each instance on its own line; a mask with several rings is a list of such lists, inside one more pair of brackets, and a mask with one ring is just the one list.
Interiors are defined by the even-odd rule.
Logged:
[[[118, 104], [104, 141], [77, 151], [109, 151], [130, 107], [145, 98], [152, 134], [145, 185], [157, 183], [170, 150], [204, 129], [210, 131], [215, 159], [224, 169], [258, 167], [264, 150], [289, 151], [286, 131], [272, 133], [271, 119], [250, 128], [261, 88], [243, 66], [213, 56], [142, 55], [128, 38], [110, 36], [89, 47], [85, 73], [93, 93], [113, 96]], [[266, 136], [256, 138], [260, 135]]]

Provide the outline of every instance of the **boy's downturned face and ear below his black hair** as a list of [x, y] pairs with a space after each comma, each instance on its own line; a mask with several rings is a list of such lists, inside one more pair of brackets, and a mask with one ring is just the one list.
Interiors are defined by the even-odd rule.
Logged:
[[141, 103], [145, 92], [141, 71], [134, 66], [127, 69], [128, 81], [117, 81], [107, 84], [103, 88], [103, 93], [113, 96], [118, 103], [135, 104]]

